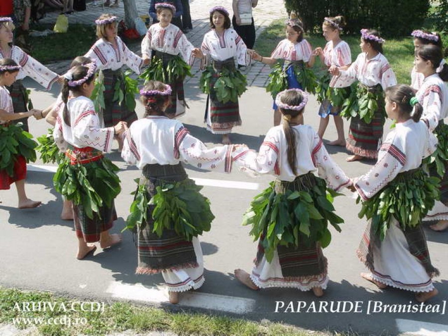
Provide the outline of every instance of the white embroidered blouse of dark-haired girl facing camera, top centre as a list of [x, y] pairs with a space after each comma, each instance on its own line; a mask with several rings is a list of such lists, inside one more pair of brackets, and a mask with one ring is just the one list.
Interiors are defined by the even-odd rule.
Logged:
[[236, 57], [238, 64], [250, 64], [246, 45], [236, 31], [231, 28], [225, 29], [223, 35], [219, 35], [215, 29], [210, 30], [204, 35], [201, 50], [206, 56], [206, 64], [210, 62], [210, 57], [218, 61]]

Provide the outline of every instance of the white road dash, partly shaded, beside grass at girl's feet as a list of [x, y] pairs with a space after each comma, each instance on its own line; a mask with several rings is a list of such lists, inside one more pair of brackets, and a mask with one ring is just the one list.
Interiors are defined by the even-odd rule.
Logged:
[[[111, 282], [106, 293], [112, 298], [134, 300], [148, 303], [167, 303], [168, 291], [165, 287], [143, 286], [142, 284], [123, 284]], [[180, 294], [180, 306], [212, 309], [234, 314], [250, 313], [255, 308], [255, 300], [226, 295], [200, 292], [183, 292]]]

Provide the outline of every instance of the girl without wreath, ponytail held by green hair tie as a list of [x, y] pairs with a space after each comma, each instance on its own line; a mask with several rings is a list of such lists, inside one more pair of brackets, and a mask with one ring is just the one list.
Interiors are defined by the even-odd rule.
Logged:
[[385, 104], [396, 127], [387, 134], [375, 166], [353, 179], [353, 190], [363, 200], [360, 215], [369, 219], [357, 253], [370, 273], [361, 276], [379, 288], [413, 291], [417, 301], [425, 302], [438, 293], [431, 278], [439, 271], [431, 264], [420, 224], [428, 211], [421, 205], [434, 204], [438, 190], [420, 166], [437, 139], [419, 121], [423, 109], [411, 87], [387, 88]]

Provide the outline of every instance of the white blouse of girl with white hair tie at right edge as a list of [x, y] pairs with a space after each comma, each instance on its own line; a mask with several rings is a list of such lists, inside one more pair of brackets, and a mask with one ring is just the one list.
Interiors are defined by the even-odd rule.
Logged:
[[431, 130], [437, 127], [439, 120], [448, 116], [448, 87], [439, 74], [428, 76], [416, 93], [423, 106], [422, 119], [428, 121]]

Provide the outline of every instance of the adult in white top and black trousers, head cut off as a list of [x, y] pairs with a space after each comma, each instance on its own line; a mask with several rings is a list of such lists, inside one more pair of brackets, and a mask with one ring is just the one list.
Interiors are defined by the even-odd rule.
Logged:
[[[233, 0], [232, 25], [233, 29], [243, 39], [247, 49], [253, 49], [255, 44], [255, 25], [253, 23], [252, 8], [255, 8], [258, 0]], [[242, 66], [238, 65], [238, 68]]]

